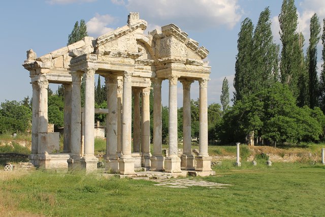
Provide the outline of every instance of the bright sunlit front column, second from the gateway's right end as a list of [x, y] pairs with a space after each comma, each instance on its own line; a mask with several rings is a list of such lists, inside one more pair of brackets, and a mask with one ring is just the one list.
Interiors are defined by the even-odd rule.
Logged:
[[181, 172], [181, 159], [177, 156], [177, 80], [179, 76], [170, 75], [169, 79], [169, 154], [165, 159], [166, 172]]

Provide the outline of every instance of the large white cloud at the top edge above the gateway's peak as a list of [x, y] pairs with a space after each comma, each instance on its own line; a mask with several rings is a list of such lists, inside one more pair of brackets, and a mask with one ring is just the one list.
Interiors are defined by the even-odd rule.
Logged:
[[233, 28], [243, 14], [237, 0], [127, 0], [125, 7], [139, 12], [142, 18], [156, 25], [175, 22], [191, 30], [219, 26]]

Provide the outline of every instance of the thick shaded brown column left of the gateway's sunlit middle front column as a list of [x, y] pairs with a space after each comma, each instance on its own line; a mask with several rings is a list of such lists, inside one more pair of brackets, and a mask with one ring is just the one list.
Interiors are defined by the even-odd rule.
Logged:
[[106, 115], [106, 171], [118, 172], [117, 157], [117, 80], [116, 76], [105, 77], [107, 108]]

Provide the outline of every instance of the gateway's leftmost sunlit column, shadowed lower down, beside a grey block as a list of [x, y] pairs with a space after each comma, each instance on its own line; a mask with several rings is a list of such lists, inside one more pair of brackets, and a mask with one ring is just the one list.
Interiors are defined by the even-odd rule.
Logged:
[[49, 155], [46, 152], [47, 145], [47, 88], [49, 82], [47, 80], [38, 80], [39, 86], [39, 126], [38, 126], [38, 160], [39, 166], [49, 168]]

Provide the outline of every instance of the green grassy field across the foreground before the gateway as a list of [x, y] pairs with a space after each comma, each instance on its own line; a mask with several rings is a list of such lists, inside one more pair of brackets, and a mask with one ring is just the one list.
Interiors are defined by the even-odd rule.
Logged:
[[223, 161], [224, 189], [155, 186], [148, 180], [46, 171], [0, 173], [0, 216], [323, 216], [325, 166]]

